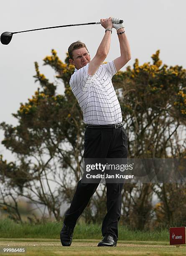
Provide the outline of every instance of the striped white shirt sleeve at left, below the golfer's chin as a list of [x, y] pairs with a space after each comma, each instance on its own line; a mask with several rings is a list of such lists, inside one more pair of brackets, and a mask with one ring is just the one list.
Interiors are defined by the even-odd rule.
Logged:
[[93, 76], [88, 74], [88, 69], [89, 63], [74, 72], [74, 75], [70, 79], [70, 87], [72, 91], [79, 90], [81, 92], [87, 92], [89, 90]]

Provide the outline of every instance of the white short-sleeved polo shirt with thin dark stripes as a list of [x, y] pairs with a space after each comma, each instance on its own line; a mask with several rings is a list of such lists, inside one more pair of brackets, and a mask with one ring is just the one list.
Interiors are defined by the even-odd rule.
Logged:
[[70, 87], [83, 112], [86, 124], [106, 125], [122, 122], [120, 103], [112, 84], [112, 76], [117, 73], [114, 61], [102, 64], [97, 72], [88, 74], [89, 63], [74, 70]]

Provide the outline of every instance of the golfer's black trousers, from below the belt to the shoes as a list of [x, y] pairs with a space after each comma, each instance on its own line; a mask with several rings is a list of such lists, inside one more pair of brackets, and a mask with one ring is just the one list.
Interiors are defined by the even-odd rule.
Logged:
[[[84, 158], [127, 158], [127, 133], [121, 128], [87, 128], [84, 133]], [[76, 221], [87, 206], [99, 183], [77, 184], [76, 192], [64, 223], [75, 227]], [[106, 183], [107, 214], [102, 223], [102, 235], [110, 233], [118, 239], [118, 221], [121, 216], [122, 183]]]

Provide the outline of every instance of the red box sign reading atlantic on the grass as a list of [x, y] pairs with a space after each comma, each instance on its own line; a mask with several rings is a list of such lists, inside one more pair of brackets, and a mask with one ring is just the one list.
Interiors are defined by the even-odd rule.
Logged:
[[186, 227], [170, 228], [170, 245], [185, 244]]

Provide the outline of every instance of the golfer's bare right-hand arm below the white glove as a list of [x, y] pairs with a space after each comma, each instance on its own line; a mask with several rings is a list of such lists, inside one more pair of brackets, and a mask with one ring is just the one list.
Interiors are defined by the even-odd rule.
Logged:
[[[119, 25], [119, 24], [118, 24]], [[119, 28], [117, 33], [124, 32], [124, 28]], [[125, 33], [117, 35], [120, 42], [120, 53], [121, 56], [114, 60], [116, 70], [120, 70], [125, 64], [130, 61], [130, 46]]]

